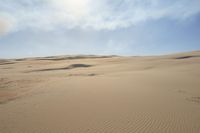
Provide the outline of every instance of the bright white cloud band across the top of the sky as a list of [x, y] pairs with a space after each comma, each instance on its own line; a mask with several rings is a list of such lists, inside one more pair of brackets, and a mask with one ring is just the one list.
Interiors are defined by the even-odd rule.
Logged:
[[[200, 12], [200, 1], [0, 0], [0, 12], [15, 18], [15, 28], [18, 30], [23, 28], [55, 30], [76, 27], [114, 30], [164, 17], [184, 20]], [[8, 32], [7, 28], [1, 32]]]

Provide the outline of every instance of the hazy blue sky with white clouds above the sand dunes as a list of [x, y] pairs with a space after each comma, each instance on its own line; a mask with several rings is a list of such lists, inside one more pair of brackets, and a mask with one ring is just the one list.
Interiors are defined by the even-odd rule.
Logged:
[[0, 0], [0, 58], [200, 50], [200, 0]]

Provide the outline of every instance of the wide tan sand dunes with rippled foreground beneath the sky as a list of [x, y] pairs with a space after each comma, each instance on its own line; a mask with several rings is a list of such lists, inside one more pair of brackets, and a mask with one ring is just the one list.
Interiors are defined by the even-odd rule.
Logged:
[[2, 59], [0, 133], [200, 133], [200, 52]]

